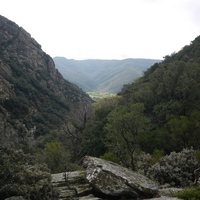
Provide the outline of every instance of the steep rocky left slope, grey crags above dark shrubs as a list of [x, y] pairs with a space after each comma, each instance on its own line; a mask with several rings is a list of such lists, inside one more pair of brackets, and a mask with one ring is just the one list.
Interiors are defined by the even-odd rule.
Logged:
[[59, 129], [82, 102], [91, 99], [62, 77], [29, 33], [0, 16], [1, 143], [32, 141]]

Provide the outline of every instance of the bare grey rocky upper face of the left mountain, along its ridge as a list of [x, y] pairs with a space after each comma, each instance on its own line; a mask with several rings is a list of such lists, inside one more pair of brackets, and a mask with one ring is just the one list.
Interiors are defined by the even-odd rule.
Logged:
[[[70, 85], [62, 77], [55, 68], [53, 59], [42, 50], [41, 45], [28, 32], [0, 15], [0, 66], [2, 69], [5, 68], [6, 61], [7, 66], [14, 62], [20, 70], [31, 74], [42, 86], [47, 87], [60, 98], [75, 100], [76, 95], [71, 96], [72, 93], [66, 91], [75, 89], [77, 91], [74, 92], [79, 93], [78, 98], [87, 99], [85, 93], [77, 86], [71, 83]], [[12, 70], [10, 73], [13, 73]]]

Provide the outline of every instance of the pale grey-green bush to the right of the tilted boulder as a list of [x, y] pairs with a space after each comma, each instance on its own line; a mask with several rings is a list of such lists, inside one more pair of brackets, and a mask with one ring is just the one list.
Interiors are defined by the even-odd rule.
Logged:
[[191, 149], [183, 149], [181, 152], [171, 152], [162, 157], [156, 164], [150, 167], [147, 175], [160, 184], [169, 183], [172, 186], [187, 186], [193, 179], [193, 172], [198, 168], [196, 152]]

